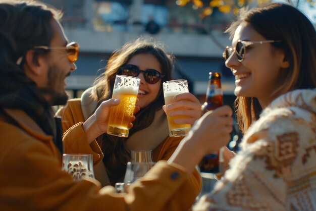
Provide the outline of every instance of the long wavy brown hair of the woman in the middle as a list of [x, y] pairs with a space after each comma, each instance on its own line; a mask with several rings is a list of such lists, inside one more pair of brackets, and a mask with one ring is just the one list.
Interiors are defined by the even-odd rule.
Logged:
[[[165, 77], [158, 82], [161, 83], [161, 87], [157, 97], [136, 114], [136, 120], [133, 122], [133, 127], [129, 132], [130, 136], [136, 131], [148, 127], [153, 121], [155, 112], [162, 109], [164, 105], [162, 83], [172, 80], [171, 73], [174, 69], [174, 57], [167, 54], [161, 43], [155, 42], [152, 39], [138, 38], [135, 41], [128, 42], [122, 48], [113, 52], [106, 65], [106, 71], [95, 80], [92, 93], [93, 98], [98, 101], [98, 104], [111, 98], [112, 87], [114, 86], [115, 77], [120, 67], [126, 65], [133, 56], [138, 54], [153, 55], [159, 61], [162, 74]], [[110, 160], [113, 163], [121, 162], [126, 164], [126, 161], [129, 159], [129, 152], [125, 147], [125, 140], [126, 138], [108, 134], [98, 137], [97, 141], [104, 153], [104, 159]]]

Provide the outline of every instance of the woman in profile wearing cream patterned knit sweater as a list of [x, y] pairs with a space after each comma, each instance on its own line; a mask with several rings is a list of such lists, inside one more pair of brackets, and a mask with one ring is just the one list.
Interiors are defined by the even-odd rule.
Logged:
[[194, 210], [316, 210], [316, 32], [294, 7], [243, 10], [223, 56], [242, 149]]

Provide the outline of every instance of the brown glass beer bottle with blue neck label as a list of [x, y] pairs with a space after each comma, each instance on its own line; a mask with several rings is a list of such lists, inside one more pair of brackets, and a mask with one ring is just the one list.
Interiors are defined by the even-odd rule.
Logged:
[[[202, 114], [224, 105], [221, 87], [221, 74], [209, 72], [205, 102], [202, 105]], [[217, 152], [207, 154], [200, 162], [200, 171], [204, 173], [221, 173], [223, 171], [223, 147]]]

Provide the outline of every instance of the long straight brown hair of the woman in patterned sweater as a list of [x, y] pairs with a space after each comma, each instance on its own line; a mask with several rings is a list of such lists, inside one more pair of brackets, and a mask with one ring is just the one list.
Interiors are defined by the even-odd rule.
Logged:
[[[272, 45], [285, 53], [290, 66], [280, 71], [279, 87], [271, 93], [271, 101], [294, 89], [316, 87], [316, 32], [308, 18], [296, 8], [285, 4], [268, 4], [251, 10], [241, 10], [238, 20], [226, 30], [234, 36], [236, 28], [245, 22], [267, 40], [282, 40]], [[259, 118], [262, 108], [255, 97], [238, 96], [235, 100], [237, 121], [246, 131]]]

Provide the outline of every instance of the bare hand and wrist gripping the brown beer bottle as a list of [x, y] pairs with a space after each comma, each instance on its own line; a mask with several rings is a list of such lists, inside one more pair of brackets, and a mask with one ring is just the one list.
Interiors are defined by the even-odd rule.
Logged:
[[228, 105], [206, 112], [195, 122], [168, 162], [181, 165], [191, 174], [205, 154], [217, 151], [230, 141], [232, 114]]

